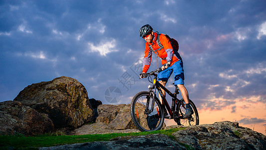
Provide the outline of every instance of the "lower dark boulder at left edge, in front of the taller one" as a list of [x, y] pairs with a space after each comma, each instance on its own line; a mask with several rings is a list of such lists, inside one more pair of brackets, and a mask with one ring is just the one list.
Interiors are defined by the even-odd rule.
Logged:
[[0, 102], [0, 134], [37, 135], [54, 129], [52, 120], [18, 101]]

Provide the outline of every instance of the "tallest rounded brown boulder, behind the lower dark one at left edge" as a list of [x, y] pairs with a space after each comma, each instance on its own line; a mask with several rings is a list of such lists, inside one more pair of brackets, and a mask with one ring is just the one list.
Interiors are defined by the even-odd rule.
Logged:
[[85, 87], [71, 77], [28, 85], [14, 100], [47, 114], [55, 128], [73, 129], [93, 120], [94, 111]]

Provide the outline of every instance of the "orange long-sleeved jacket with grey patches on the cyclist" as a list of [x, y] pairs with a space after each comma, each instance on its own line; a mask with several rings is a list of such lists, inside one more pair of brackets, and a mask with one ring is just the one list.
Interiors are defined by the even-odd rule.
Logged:
[[[153, 50], [160, 48], [160, 46], [158, 45], [158, 43], [156, 41], [157, 36], [158, 36], [158, 33], [154, 32], [154, 37], [153, 37], [152, 43], [146, 42], [142, 72], [147, 73], [147, 71], [150, 67], [150, 64], [151, 64], [152, 51], [151, 51], [149, 45], [152, 45]], [[170, 43], [170, 40], [164, 34], [161, 34], [159, 38], [160, 38], [160, 42], [164, 46], [164, 48], [155, 51], [155, 53], [160, 58], [162, 58], [162, 61], [161, 61], [162, 64], [165, 64], [167, 62], [171, 62], [171, 65], [173, 65], [179, 59], [174, 54], [174, 50], [173, 50], [173, 47]]]

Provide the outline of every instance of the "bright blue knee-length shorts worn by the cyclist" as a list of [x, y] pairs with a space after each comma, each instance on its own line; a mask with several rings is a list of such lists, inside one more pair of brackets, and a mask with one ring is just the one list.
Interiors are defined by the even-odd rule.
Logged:
[[175, 75], [175, 85], [177, 84], [184, 84], [185, 76], [184, 76], [184, 69], [183, 69], [183, 61], [182, 59], [175, 62], [173, 65], [169, 66], [167, 69], [158, 73], [158, 81], [168, 81], [169, 77], [174, 71]]

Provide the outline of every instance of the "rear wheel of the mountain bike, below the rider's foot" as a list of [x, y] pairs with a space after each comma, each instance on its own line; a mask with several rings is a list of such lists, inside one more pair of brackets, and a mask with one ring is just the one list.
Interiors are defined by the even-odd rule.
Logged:
[[[180, 100], [182, 101], [182, 103], [186, 104], [183, 98]], [[189, 118], [184, 119], [183, 115], [186, 113], [186, 108], [184, 108], [183, 105], [180, 102], [178, 102], [177, 108], [175, 111], [175, 115], [178, 115], [178, 116], [174, 116], [175, 121], [177, 122], [178, 125], [184, 125], [184, 126], [199, 125], [200, 118], [199, 118], [199, 113], [198, 113], [197, 107], [194, 104], [194, 102], [190, 99], [189, 99], [189, 103], [190, 103], [194, 113]]]

